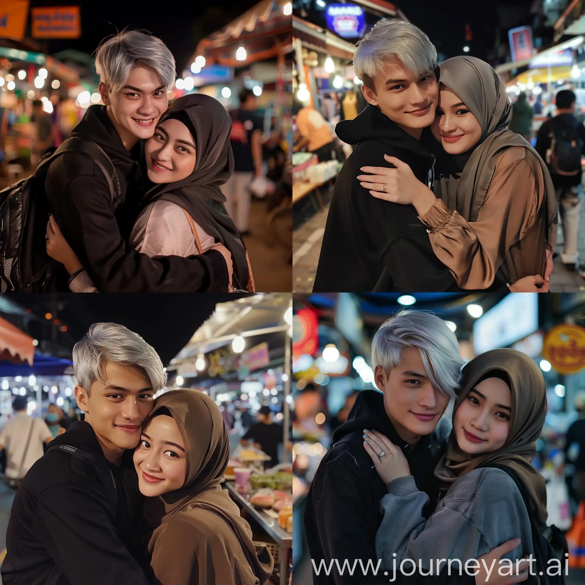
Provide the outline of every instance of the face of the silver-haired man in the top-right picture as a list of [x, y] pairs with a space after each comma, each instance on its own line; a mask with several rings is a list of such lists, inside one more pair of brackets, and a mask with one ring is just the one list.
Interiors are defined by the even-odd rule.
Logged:
[[376, 91], [362, 85], [364, 97], [404, 128], [422, 129], [435, 119], [439, 84], [434, 71], [415, 75], [401, 63], [388, 64], [373, 78]]

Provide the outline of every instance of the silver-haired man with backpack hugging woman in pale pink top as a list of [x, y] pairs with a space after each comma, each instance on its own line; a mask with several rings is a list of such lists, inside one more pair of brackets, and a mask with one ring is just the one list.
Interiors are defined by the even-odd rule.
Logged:
[[[104, 106], [92, 105], [70, 137], [92, 140], [116, 169], [121, 198], [113, 205], [104, 173], [83, 154], [66, 153], [51, 163], [45, 188], [59, 228], [102, 292], [194, 292], [228, 288], [225, 247], [181, 258], [150, 258], [127, 242], [145, 192], [140, 141], [153, 136], [168, 107], [175, 61], [157, 37], [137, 30], [105, 40], [95, 67]], [[225, 255], [225, 257], [224, 257]], [[61, 268], [60, 290], [69, 275]]]

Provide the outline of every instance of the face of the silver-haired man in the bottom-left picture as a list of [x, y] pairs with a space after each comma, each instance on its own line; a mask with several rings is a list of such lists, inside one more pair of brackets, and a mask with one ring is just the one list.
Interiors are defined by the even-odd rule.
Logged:
[[106, 363], [105, 380], [96, 380], [91, 391], [75, 386], [75, 400], [106, 448], [134, 449], [142, 423], [153, 407], [154, 391], [140, 369]]

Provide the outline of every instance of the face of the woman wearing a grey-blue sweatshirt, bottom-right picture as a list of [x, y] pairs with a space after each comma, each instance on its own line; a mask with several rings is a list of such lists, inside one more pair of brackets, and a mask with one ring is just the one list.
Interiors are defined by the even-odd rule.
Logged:
[[486, 378], [464, 398], [455, 412], [453, 430], [469, 455], [491, 453], [504, 445], [510, 432], [512, 393], [500, 378]]

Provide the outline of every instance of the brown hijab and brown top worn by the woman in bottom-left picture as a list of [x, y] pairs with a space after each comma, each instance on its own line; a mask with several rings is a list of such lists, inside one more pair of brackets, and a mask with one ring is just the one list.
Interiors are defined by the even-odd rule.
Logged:
[[[157, 399], [146, 424], [164, 407], [183, 437], [187, 473], [179, 490], [146, 498], [144, 504], [144, 527], [157, 582], [247, 585], [254, 582], [249, 580], [251, 571], [255, 583], [264, 583], [272, 573], [273, 558], [266, 547], [254, 545], [250, 525], [240, 517], [238, 506], [220, 485], [229, 460], [229, 437], [219, 408], [198, 390], [171, 390]], [[183, 528], [167, 530], [168, 523], [175, 518]], [[203, 525], [212, 535], [209, 538], [202, 536]], [[190, 526], [194, 530], [185, 532]], [[240, 545], [237, 549], [233, 548], [234, 534]], [[157, 542], [159, 539], [164, 543]], [[173, 564], [165, 562], [164, 553], [156, 555], [156, 549], [181, 550], [185, 554]], [[197, 555], [194, 559], [195, 551], [205, 551], [207, 558]], [[181, 560], [183, 565], [190, 566], [181, 566]], [[209, 564], [211, 571], [206, 568]], [[194, 565], [197, 570], [193, 569]]]

